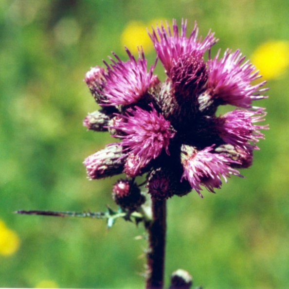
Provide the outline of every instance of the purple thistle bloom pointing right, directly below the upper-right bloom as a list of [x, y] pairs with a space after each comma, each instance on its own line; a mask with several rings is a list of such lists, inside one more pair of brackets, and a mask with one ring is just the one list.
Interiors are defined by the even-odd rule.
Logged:
[[259, 139], [264, 139], [259, 129], [267, 129], [268, 126], [255, 126], [253, 123], [264, 121], [265, 115], [263, 109], [258, 111], [235, 109], [216, 118], [215, 125], [220, 138], [225, 143], [245, 149], [253, 143], [253, 147], [257, 148], [255, 143]]

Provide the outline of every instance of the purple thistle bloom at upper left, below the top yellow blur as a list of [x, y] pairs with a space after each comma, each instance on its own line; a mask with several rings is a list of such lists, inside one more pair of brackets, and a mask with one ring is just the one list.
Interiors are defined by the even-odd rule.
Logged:
[[108, 72], [104, 75], [106, 83], [103, 86], [102, 93], [105, 99], [101, 105], [119, 106], [137, 103], [147, 93], [152, 82], [153, 69], [151, 66], [147, 72], [147, 60], [144, 58], [144, 52], [139, 52], [139, 58], [136, 61], [134, 56], [126, 48], [129, 60], [123, 62], [116, 54], [113, 53], [117, 61], [111, 57], [109, 59], [112, 64], [109, 66], [107, 62]]

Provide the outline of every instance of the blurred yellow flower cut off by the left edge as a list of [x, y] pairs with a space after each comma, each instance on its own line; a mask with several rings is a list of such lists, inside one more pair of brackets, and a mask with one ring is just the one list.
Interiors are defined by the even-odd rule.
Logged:
[[5, 223], [0, 220], [0, 254], [11, 255], [15, 253], [20, 245], [18, 235], [8, 229]]

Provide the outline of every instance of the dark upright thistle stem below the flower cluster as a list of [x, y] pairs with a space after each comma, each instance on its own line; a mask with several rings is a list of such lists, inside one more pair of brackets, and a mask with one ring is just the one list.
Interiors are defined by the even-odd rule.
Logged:
[[152, 199], [152, 222], [148, 227], [146, 289], [163, 289], [166, 200]]

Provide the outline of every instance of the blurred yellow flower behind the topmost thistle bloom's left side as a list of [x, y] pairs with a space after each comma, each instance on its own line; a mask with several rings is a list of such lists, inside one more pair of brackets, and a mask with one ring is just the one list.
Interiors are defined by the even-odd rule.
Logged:
[[146, 28], [151, 31], [151, 26], [161, 23], [161, 19], [155, 19], [145, 24], [142, 21], [129, 21], [121, 35], [121, 45], [126, 46], [132, 54], [138, 53], [138, 46], [142, 46], [144, 53], [153, 50], [153, 43], [149, 38]]

